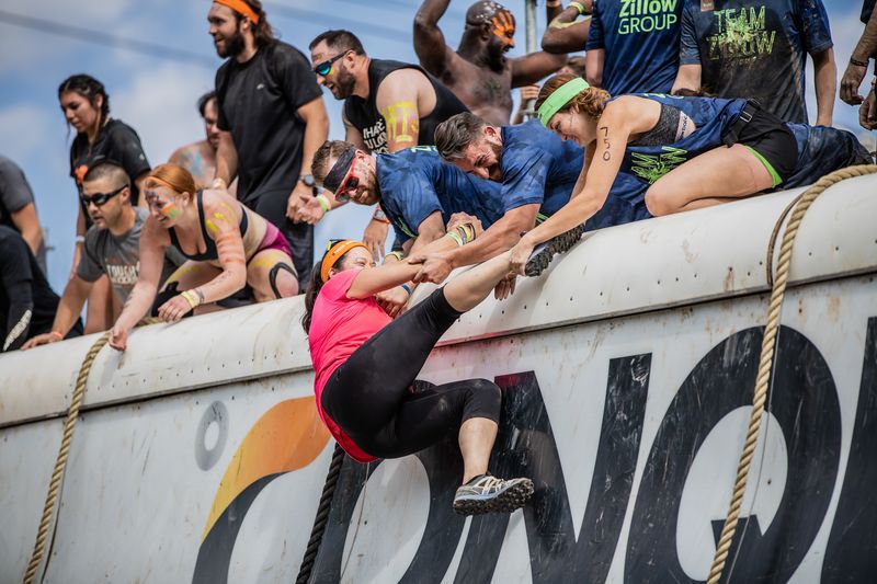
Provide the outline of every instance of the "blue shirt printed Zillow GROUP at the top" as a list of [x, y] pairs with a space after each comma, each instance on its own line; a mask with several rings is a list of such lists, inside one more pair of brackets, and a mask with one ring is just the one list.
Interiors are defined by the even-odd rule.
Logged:
[[606, 50], [603, 89], [612, 95], [670, 93], [684, 1], [594, 0], [585, 48]]

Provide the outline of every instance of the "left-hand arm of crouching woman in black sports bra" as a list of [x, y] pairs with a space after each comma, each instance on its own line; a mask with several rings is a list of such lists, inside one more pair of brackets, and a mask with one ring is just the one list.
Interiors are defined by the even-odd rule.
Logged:
[[116, 351], [125, 351], [128, 333], [146, 316], [156, 299], [161, 268], [164, 265], [164, 247], [170, 244], [168, 231], [150, 216], [147, 217], [140, 232], [140, 266], [137, 284], [128, 295], [122, 314], [113, 325], [110, 334], [110, 346]]

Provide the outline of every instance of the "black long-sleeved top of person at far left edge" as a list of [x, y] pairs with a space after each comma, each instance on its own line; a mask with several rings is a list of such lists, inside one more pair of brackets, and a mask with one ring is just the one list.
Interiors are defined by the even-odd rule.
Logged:
[[[59, 300], [24, 239], [0, 226], [0, 352], [50, 331]], [[81, 323], [68, 336], [77, 334], [82, 334]]]

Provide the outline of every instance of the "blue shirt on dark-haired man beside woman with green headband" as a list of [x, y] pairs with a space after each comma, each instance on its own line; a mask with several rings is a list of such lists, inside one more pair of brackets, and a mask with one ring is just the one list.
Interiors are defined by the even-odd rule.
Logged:
[[[502, 127], [502, 199], [506, 210], [538, 204], [544, 220], [569, 202], [584, 165], [584, 149], [562, 140], [538, 119]], [[601, 229], [650, 217], [643, 193], [625, 193], [613, 185], [603, 208], [585, 221], [585, 229]]]

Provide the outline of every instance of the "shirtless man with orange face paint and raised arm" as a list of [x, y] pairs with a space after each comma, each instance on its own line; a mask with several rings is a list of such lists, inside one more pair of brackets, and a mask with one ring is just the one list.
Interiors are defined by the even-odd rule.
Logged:
[[[514, 47], [515, 20], [498, 2], [480, 1], [466, 11], [466, 27], [456, 51], [445, 43], [438, 20], [451, 0], [424, 0], [414, 16], [414, 50], [420, 64], [489, 124], [509, 124], [512, 88], [529, 85], [557, 71], [566, 55], [532, 53], [508, 58]], [[559, 1], [546, 3], [548, 21], [560, 12]]]

